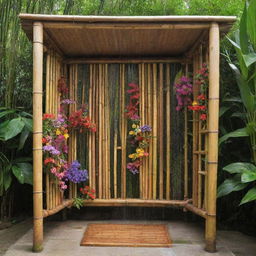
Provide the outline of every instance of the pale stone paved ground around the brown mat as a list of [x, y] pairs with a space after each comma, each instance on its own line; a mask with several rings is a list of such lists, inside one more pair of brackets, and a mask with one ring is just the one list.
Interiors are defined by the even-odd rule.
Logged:
[[[93, 221], [99, 223], [100, 221]], [[108, 221], [101, 221], [108, 222]], [[157, 221], [111, 221], [111, 223], [166, 223], [174, 242], [172, 248], [126, 248], [79, 246], [88, 221], [47, 222], [44, 251], [31, 252], [31, 221], [0, 231], [0, 255], [5, 256], [256, 256], [256, 238], [239, 232], [219, 231], [218, 252], [207, 253], [204, 230], [194, 223]], [[90, 222], [92, 223], [92, 221]], [[26, 230], [28, 230], [26, 232]], [[25, 234], [24, 234], [25, 232]], [[20, 236], [19, 239], [17, 239]], [[12, 245], [11, 245], [12, 244]], [[8, 248], [9, 247], [9, 248]], [[1, 254], [2, 252], [2, 254]], [[5, 252], [5, 253], [4, 253]]]

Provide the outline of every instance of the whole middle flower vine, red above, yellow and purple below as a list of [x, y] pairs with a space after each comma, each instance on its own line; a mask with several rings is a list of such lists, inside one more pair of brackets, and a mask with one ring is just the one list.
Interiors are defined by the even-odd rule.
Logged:
[[138, 85], [130, 83], [128, 86], [130, 89], [127, 90], [129, 104], [126, 106], [126, 116], [133, 122], [132, 130], [129, 131], [129, 139], [130, 144], [135, 148], [135, 152], [128, 156], [131, 162], [126, 167], [131, 173], [136, 174], [139, 173], [142, 164], [141, 158], [149, 155], [146, 149], [149, 147], [149, 141], [152, 138], [150, 134], [152, 128], [149, 125], [140, 125], [138, 109], [140, 90]]

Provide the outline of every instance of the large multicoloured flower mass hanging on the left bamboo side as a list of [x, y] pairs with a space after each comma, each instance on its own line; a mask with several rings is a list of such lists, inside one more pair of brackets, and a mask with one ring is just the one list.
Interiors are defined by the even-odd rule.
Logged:
[[81, 183], [88, 180], [88, 171], [81, 169], [77, 160], [68, 163], [69, 134], [72, 130], [96, 132], [96, 125], [91, 122], [84, 107], [67, 116], [68, 105], [75, 101], [64, 98], [69, 91], [64, 77], [58, 81], [58, 91], [61, 95], [60, 111], [57, 117], [48, 113], [43, 115], [42, 143], [45, 169], [54, 175], [63, 191], [68, 188], [68, 181]]

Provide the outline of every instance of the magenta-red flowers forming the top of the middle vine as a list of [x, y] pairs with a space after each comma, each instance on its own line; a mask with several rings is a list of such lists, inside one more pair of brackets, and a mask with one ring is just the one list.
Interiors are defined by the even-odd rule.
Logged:
[[129, 94], [129, 104], [126, 106], [126, 116], [131, 120], [139, 120], [139, 98], [140, 98], [140, 89], [137, 84], [130, 83], [128, 84], [130, 87], [129, 90], [127, 90], [127, 93]]

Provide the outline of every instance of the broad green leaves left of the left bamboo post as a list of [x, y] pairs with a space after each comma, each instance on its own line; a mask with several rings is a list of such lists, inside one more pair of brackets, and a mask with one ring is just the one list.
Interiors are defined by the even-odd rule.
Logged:
[[31, 158], [19, 157], [32, 131], [31, 116], [15, 109], [0, 109], [0, 196], [11, 186], [12, 180], [32, 185]]

